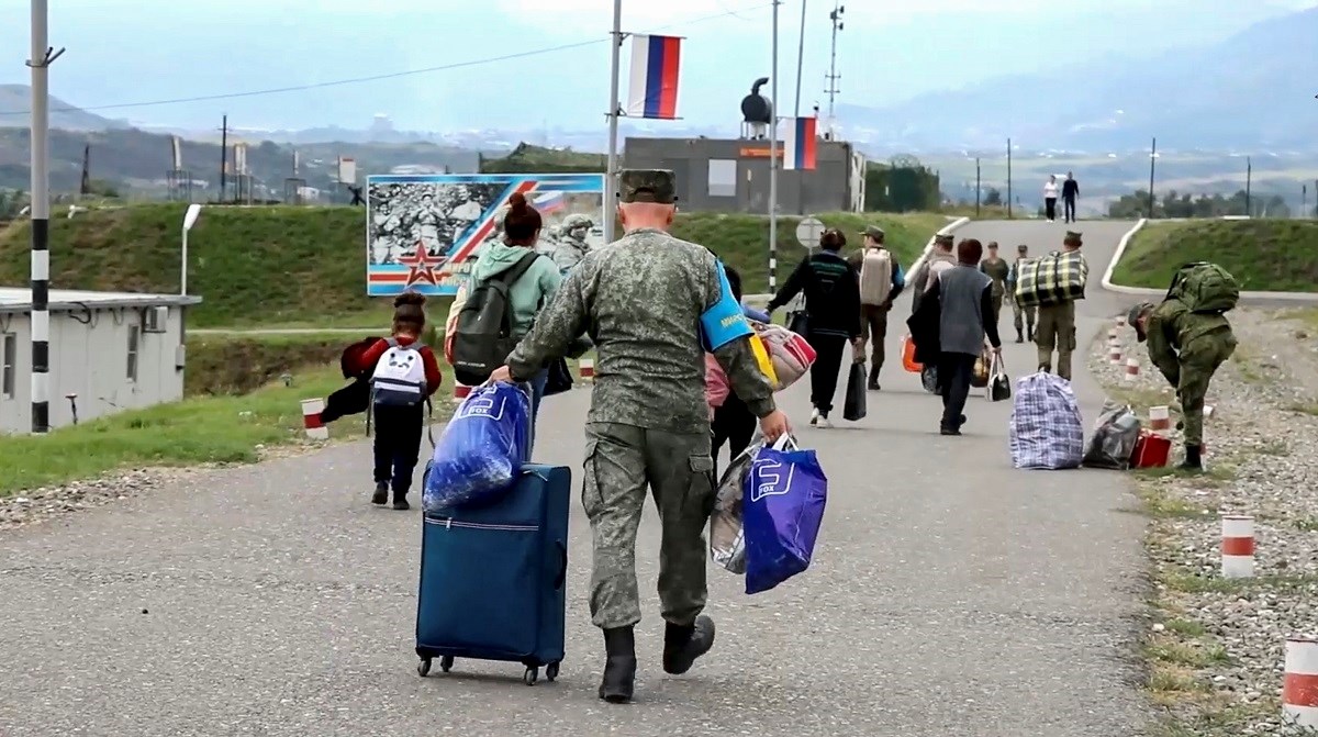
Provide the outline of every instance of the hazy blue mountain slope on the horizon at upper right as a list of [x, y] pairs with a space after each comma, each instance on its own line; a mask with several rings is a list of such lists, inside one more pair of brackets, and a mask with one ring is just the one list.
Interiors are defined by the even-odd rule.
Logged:
[[[842, 107], [840, 116], [880, 141], [907, 146], [998, 146], [1011, 136], [1032, 145], [1103, 150], [1147, 146], [1159, 136], [1172, 148], [1307, 148], [1318, 125], [1315, 37], [1318, 8], [1153, 58], [1068, 65], [1062, 51], [1036, 74], [879, 109]], [[961, 115], [966, 111], [974, 115]]]

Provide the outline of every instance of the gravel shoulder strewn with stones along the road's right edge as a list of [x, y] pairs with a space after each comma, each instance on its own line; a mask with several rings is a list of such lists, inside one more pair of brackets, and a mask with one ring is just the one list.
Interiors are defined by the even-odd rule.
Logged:
[[[1207, 472], [1136, 475], [1139, 512], [1149, 518], [1153, 585], [1143, 650], [1145, 688], [1161, 712], [1155, 734], [1296, 733], [1282, 722], [1280, 696], [1284, 639], [1318, 630], [1315, 316], [1231, 312], [1240, 347], [1209, 392]], [[1106, 330], [1093, 345], [1094, 376], [1141, 417], [1149, 406], [1172, 406], [1174, 422], [1174, 392], [1133, 331], [1119, 335], [1123, 357], [1140, 359], [1140, 376], [1128, 382], [1124, 367], [1107, 361]], [[1256, 577], [1220, 576], [1220, 513], [1255, 517]]]

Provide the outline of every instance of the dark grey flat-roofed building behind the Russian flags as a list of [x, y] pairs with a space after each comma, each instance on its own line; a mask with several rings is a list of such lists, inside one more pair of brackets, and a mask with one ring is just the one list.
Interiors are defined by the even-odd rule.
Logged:
[[[767, 140], [629, 137], [622, 160], [629, 169], [671, 169], [687, 212], [768, 214]], [[851, 144], [820, 140], [816, 169], [778, 173], [779, 215], [863, 211], [865, 166]]]

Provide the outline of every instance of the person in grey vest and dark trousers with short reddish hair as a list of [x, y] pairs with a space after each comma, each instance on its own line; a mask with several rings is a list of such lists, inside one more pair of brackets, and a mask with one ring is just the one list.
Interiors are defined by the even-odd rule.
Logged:
[[957, 265], [938, 274], [927, 294], [938, 299], [938, 386], [942, 393], [942, 435], [961, 435], [962, 414], [970, 394], [975, 360], [983, 355], [985, 336], [994, 353], [1002, 352], [998, 323], [992, 319], [992, 280], [978, 269], [983, 245], [974, 239], [957, 244]]

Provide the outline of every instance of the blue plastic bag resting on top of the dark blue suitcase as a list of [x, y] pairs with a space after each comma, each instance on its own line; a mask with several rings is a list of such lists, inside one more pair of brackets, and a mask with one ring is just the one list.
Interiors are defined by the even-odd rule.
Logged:
[[498, 500], [530, 460], [531, 397], [506, 382], [476, 386], [444, 427], [426, 465], [422, 509]]

